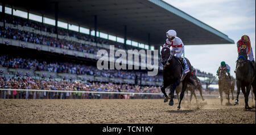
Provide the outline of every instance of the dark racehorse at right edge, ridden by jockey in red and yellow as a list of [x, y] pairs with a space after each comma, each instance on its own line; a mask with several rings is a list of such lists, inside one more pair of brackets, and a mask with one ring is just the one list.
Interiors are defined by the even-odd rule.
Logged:
[[255, 95], [255, 79], [253, 65], [247, 60], [246, 49], [242, 48], [238, 53], [238, 66], [236, 69], [236, 80], [237, 80], [237, 99], [234, 105], [238, 104], [238, 97], [240, 94], [240, 89], [242, 89], [242, 93], [245, 96], [245, 109], [251, 109], [248, 104], [249, 94], [251, 85], [253, 84], [253, 92]]

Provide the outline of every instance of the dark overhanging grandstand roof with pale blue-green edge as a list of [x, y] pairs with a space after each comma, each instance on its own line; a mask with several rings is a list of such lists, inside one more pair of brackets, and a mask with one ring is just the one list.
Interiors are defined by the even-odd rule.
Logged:
[[55, 2], [59, 3], [60, 21], [94, 29], [97, 15], [97, 31], [123, 37], [127, 25], [128, 40], [148, 43], [150, 33], [151, 45], [158, 46], [164, 43], [166, 32], [175, 29], [184, 45], [234, 43], [224, 33], [160, 0], [9, 0], [6, 5], [54, 19]]

